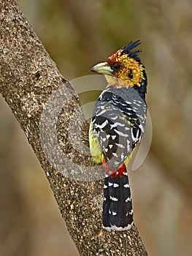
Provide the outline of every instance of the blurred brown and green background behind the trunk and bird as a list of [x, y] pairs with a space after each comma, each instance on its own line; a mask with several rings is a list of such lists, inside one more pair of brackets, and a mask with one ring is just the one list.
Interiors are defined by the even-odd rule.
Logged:
[[[192, 1], [18, 3], [68, 80], [142, 40], [153, 141], [139, 170], [129, 171], [134, 219], [150, 256], [191, 255]], [[0, 255], [77, 256], [45, 174], [1, 98], [0, 123]]]

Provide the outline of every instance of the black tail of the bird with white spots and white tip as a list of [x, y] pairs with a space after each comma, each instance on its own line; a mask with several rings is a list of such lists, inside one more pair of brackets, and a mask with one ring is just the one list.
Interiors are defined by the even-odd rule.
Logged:
[[127, 173], [104, 179], [103, 225], [108, 231], [128, 230], [133, 224], [131, 191]]

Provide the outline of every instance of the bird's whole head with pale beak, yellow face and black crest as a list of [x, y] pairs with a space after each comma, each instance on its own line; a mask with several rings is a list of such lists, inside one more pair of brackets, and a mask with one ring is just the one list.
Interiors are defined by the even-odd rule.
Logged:
[[141, 86], [145, 80], [145, 67], [139, 59], [141, 50], [133, 50], [140, 40], [130, 42], [113, 53], [106, 62], [92, 67], [91, 71], [105, 75], [109, 86]]

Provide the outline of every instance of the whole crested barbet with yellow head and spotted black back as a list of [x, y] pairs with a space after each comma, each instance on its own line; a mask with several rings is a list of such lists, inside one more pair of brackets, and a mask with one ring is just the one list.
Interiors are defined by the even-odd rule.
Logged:
[[130, 42], [91, 69], [107, 80], [93, 110], [89, 142], [93, 161], [106, 172], [102, 220], [108, 231], [128, 230], [134, 223], [126, 165], [147, 115], [147, 75], [138, 45], [140, 40]]

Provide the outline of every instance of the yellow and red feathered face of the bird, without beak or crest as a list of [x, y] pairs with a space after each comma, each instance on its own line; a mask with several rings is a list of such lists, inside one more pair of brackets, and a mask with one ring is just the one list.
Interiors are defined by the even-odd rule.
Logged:
[[107, 75], [107, 82], [110, 85], [118, 86], [140, 86], [144, 78], [142, 64], [139, 64], [128, 54], [121, 55], [122, 50], [118, 50], [107, 59], [107, 64], [113, 69], [112, 75]]

